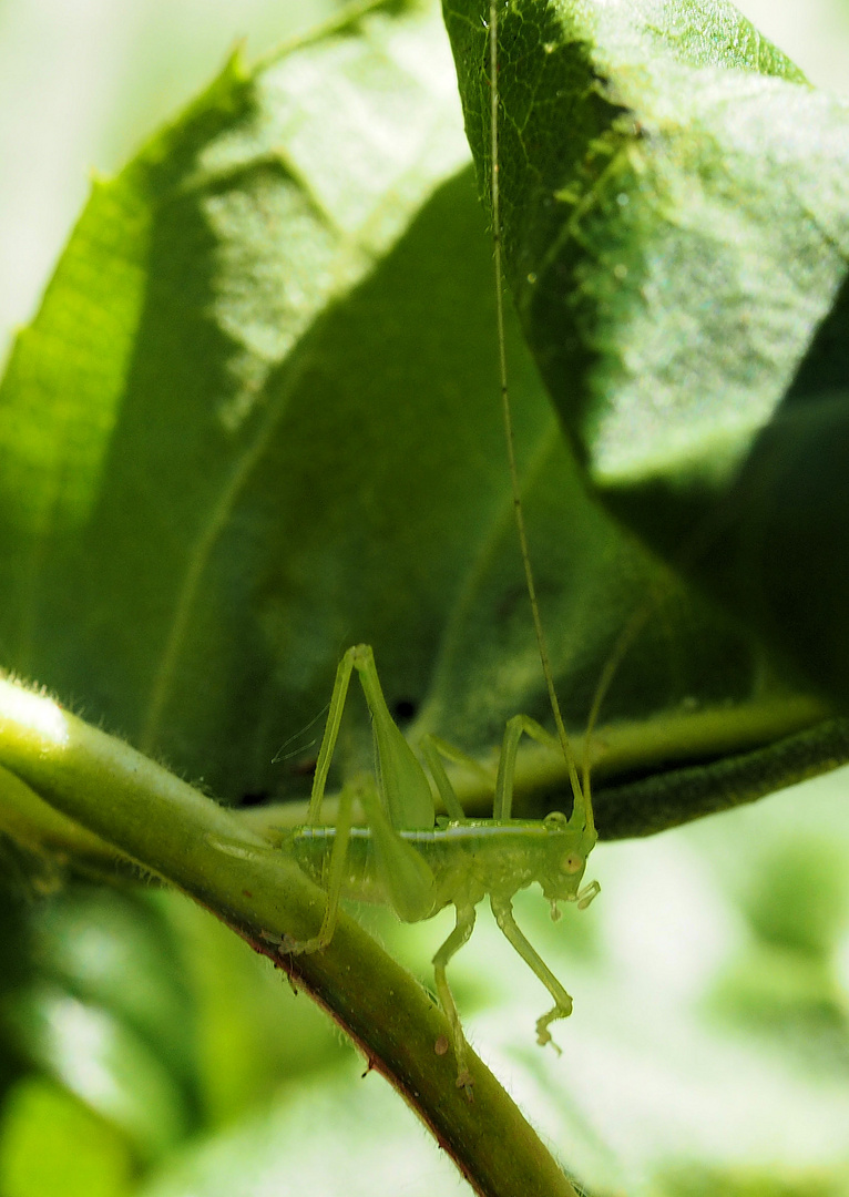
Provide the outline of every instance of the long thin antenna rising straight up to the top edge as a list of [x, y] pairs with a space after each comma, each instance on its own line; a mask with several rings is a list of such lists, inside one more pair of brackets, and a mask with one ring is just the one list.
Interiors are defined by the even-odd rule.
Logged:
[[587, 831], [595, 831], [593, 819], [593, 803], [589, 796], [588, 774], [584, 771], [584, 788], [578, 778], [577, 762], [569, 743], [569, 736], [560, 715], [560, 704], [554, 689], [554, 679], [548, 662], [548, 649], [546, 646], [542, 620], [540, 619], [539, 603], [536, 601], [536, 585], [534, 583], [534, 571], [530, 566], [530, 553], [528, 551], [528, 536], [524, 530], [524, 512], [522, 510], [522, 492], [519, 485], [519, 469], [516, 468], [516, 445], [513, 431], [513, 412], [510, 411], [510, 396], [507, 385], [507, 347], [504, 338], [504, 277], [502, 272], [502, 237], [501, 237], [501, 206], [498, 194], [498, 5], [496, 0], [490, 2], [490, 130], [491, 130], [491, 203], [492, 203], [492, 241], [495, 243], [495, 269], [496, 269], [496, 321], [498, 326], [498, 370], [501, 376], [502, 414], [504, 417], [504, 436], [507, 439], [507, 456], [510, 463], [510, 485], [513, 487], [513, 510], [516, 517], [516, 531], [519, 533], [519, 547], [522, 553], [522, 565], [524, 567], [524, 581], [528, 587], [530, 598], [530, 610], [534, 618], [534, 631], [539, 646], [540, 661], [545, 683], [548, 688], [548, 699], [554, 715], [557, 735], [563, 748], [563, 755], [569, 770], [569, 780], [572, 786], [575, 800], [575, 813], [583, 810], [583, 825]]

